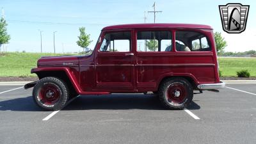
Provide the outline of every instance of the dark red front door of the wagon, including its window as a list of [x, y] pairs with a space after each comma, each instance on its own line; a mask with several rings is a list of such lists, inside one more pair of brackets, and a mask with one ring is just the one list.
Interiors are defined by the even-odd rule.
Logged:
[[134, 52], [131, 31], [106, 32], [101, 41], [95, 63], [97, 90], [133, 90]]

